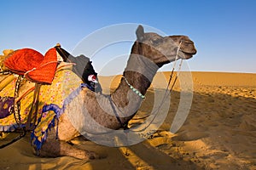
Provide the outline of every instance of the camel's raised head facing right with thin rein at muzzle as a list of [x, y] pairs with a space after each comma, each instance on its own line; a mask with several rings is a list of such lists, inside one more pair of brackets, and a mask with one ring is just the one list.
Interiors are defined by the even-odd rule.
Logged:
[[[177, 59], [190, 59], [196, 54], [194, 42], [186, 36], [161, 37], [153, 32], [144, 32], [143, 26], [137, 27], [137, 42], [132, 47], [132, 54], [140, 54], [154, 61], [158, 66]], [[177, 54], [177, 48], [178, 54]]]

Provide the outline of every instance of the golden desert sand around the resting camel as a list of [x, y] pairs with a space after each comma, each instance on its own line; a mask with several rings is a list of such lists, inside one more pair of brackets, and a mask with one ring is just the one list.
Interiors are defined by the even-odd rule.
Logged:
[[[158, 73], [170, 76], [170, 72]], [[117, 88], [120, 76], [100, 77], [105, 93]], [[73, 157], [41, 158], [32, 154], [30, 136], [0, 150], [0, 169], [256, 169], [256, 74], [192, 72], [193, 100], [189, 116], [171, 133], [180, 105], [181, 88], [173, 88], [171, 105], [162, 126], [142, 143], [113, 148], [79, 137], [73, 144], [105, 158], [83, 161]], [[159, 90], [165, 90], [161, 81]], [[164, 82], [162, 83], [164, 84]], [[111, 89], [108, 90], [108, 87]], [[155, 87], [130, 126], [152, 111]], [[0, 144], [15, 137], [5, 134]]]

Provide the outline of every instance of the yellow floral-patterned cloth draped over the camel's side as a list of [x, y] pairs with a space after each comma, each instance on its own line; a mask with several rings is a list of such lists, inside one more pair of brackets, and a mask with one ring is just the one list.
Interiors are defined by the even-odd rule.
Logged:
[[[55, 78], [51, 83], [51, 85], [42, 85], [40, 89], [37, 117], [39, 118], [42, 116], [44, 105], [55, 104], [61, 108], [63, 105], [64, 99], [66, 99], [67, 96], [71, 94], [75, 89], [79, 88], [81, 82], [82, 82], [81, 79], [75, 73], [73, 73], [73, 71], [71, 71], [70, 68], [67, 69], [67, 66], [59, 65], [55, 73]], [[27, 81], [26, 84], [21, 86], [21, 88], [24, 88], [23, 86], [30, 87], [30, 84], [27, 84], [27, 83], [32, 83], [32, 82]], [[32, 91], [26, 92], [29, 90], [30, 89], [23, 90], [23, 94], [26, 94], [26, 95], [22, 95], [22, 99], [20, 99], [20, 121], [21, 121], [22, 127], [25, 127], [27, 116], [29, 115], [29, 112], [31, 110], [31, 105], [33, 100]], [[5, 88], [3, 88], [2, 91], [0, 91], [0, 96], [14, 97], [14, 95], [15, 95], [15, 79], [12, 82], [10, 82]], [[48, 123], [53, 120], [54, 116], [55, 116], [55, 113], [53, 111], [48, 111], [44, 113], [44, 115], [42, 116], [42, 120], [44, 120], [45, 124], [41, 123], [40, 126], [42, 127], [39, 127], [38, 129], [40, 128], [44, 129], [45, 127], [48, 127], [49, 125]], [[0, 119], [0, 131], [12, 132], [17, 127], [18, 127], [18, 124], [15, 122], [14, 114], [11, 114], [9, 116], [6, 116], [5, 118]]]

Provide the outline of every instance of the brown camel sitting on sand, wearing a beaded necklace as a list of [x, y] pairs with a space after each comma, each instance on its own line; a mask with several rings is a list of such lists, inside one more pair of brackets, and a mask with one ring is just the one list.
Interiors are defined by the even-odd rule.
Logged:
[[137, 27], [136, 35], [119, 87], [110, 95], [81, 90], [64, 105], [64, 112], [55, 120], [58, 126], [48, 132], [41, 149], [34, 146], [38, 156], [99, 158], [97, 153], [67, 142], [86, 131], [101, 131], [99, 125], [113, 130], [125, 127], [139, 110], [158, 69], [176, 58], [190, 59], [196, 54], [194, 42], [186, 36], [161, 37], [153, 32], [145, 33], [143, 26]]

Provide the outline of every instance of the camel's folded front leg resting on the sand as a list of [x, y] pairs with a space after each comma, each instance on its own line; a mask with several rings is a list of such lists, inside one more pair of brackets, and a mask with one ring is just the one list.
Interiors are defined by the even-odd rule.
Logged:
[[[54, 131], [54, 130], [53, 130]], [[49, 131], [48, 138], [39, 150], [39, 156], [57, 157], [57, 156], [72, 156], [75, 158], [90, 160], [97, 159], [99, 156], [92, 151], [81, 150], [67, 142], [55, 139], [55, 133]]]

